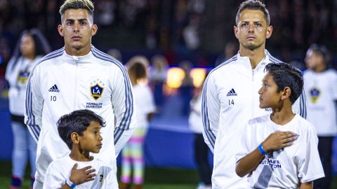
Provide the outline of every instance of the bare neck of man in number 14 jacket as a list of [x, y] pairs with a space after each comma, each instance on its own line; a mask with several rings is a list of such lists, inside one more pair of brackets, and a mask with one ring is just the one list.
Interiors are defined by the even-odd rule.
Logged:
[[251, 69], [255, 69], [258, 63], [265, 57], [265, 46], [262, 45], [260, 48], [254, 50], [249, 50], [247, 48], [240, 47], [240, 55], [242, 57], [249, 57], [251, 61]]

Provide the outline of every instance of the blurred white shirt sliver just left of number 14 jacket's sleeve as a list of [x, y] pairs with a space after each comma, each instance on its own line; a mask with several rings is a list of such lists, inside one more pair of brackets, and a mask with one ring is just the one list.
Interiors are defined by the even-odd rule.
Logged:
[[202, 130], [204, 130], [201, 120], [201, 99], [201, 95], [199, 95], [196, 99], [191, 100], [191, 113], [188, 117], [190, 129], [197, 134], [201, 134]]

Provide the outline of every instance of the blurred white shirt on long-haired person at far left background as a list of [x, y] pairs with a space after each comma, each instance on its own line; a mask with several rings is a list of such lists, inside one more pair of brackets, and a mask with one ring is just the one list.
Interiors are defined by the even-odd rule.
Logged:
[[25, 110], [25, 93], [30, 71], [41, 56], [35, 59], [25, 57], [11, 58], [6, 67], [5, 78], [9, 83], [8, 98], [9, 111], [15, 116], [23, 116]]

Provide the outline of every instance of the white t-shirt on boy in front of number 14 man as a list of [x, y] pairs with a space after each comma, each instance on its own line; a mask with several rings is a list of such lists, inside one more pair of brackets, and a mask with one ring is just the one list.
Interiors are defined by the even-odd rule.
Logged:
[[242, 135], [241, 150], [236, 155], [237, 162], [276, 131], [291, 131], [299, 136], [292, 146], [265, 155], [248, 176], [251, 188], [298, 188], [299, 183], [324, 177], [315, 128], [298, 115], [286, 125], [273, 123], [270, 115], [249, 120]]

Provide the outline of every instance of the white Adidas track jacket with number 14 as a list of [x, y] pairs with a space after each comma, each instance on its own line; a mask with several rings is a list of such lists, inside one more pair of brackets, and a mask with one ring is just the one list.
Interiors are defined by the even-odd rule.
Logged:
[[[235, 153], [244, 127], [251, 118], [271, 113], [260, 109], [258, 90], [265, 76], [265, 66], [280, 62], [265, 50], [265, 58], [251, 69], [249, 57], [238, 53], [213, 69], [202, 92], [204, 139], [214, 153], [213, 188], [246, 188], [246, 178], [235, 173]], [[293, 112], [305, 117], [305, 95], [293, 104]]]

